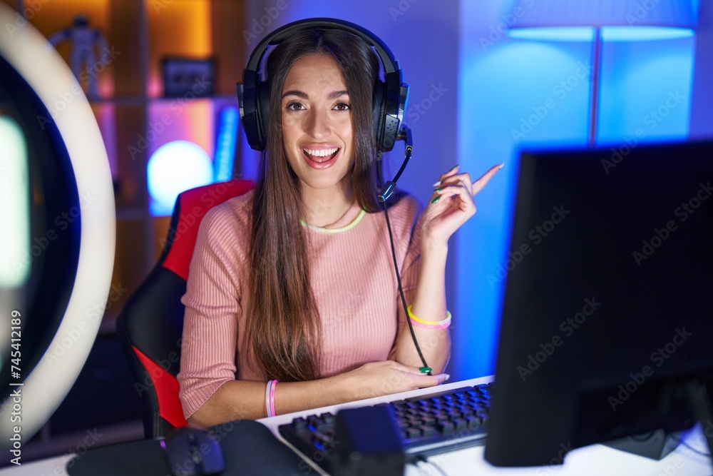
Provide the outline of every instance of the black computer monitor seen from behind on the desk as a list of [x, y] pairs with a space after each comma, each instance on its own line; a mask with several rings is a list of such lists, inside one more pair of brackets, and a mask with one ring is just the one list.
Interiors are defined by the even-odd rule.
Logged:
[[711, 417], [713, 142], [523, 152], [503, 267], [488, 462]]

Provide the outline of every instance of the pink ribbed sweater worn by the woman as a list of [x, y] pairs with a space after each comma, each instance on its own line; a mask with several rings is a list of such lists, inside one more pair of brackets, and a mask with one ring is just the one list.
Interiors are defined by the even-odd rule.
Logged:
[[[193, 415], [230, 380], [266, 381], [243, 348], [249, 312], [249, 266], [253, 192], [209, 211], [200, 224], [186, 293], [181, 348], [180, 400]], [[410, 304], [419, 273], [421, 206], [404, 196], [389, 208], [396, 258]], [[307, 226], [312, 291], [322, 320], [322, 377], [364, 363], [394, 358], [406, 319], [398, 298], [384, 213], [366, 213], [356, 203], [329, 228]], [[238, 338], [240, 336], [240, 338]]]

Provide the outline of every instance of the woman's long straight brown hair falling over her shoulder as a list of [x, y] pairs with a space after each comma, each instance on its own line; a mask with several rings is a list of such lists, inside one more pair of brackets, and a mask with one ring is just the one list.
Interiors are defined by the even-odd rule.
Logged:
[[270, 126], [255, 188], [250, 246], [250, 309], [245, 342], [266, 378], [281, 381], [319, 377], [322, 325], [309, 280], [307, 236], [299, 179], [282, 143], [282, 88], [289, 69], [308, 54], [329, 54], [339, 64], [352, 103], [356, 201], [368, 212], [376, 202], [376, 139], [372, 93], [379, 59], [358, 36], [314, 29], [284, 40], [267, 59]]

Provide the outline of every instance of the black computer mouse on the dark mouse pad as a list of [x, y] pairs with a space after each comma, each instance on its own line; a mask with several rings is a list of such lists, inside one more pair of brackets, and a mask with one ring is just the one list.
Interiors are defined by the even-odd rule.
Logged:
[[220, 443], [208, 430], [178, 428], [160, 442], [174, 476], [212, 475], [225, 469]]

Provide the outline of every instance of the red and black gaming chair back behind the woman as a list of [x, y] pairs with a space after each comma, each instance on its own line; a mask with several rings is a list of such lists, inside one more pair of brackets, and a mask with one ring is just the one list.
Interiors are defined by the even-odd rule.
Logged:
[[143, 401], [147, 438], [163, 437], [188, 425], [176, 380], [185, 310], [180, 298], [185, 294], [200, 221], [210, 208], [252, 188], [250, 181], [232, 180], [181, 193], [158, 263], [119, 315], [116, 333], [136, 379], [134, 388]]

